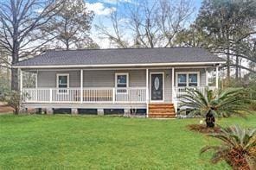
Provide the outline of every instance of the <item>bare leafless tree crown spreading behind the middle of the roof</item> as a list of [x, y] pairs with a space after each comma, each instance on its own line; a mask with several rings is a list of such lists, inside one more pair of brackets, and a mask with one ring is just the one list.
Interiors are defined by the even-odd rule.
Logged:
[[125, 4], [108, 17], [112, 30], [96, 25], [99, 35], [116, 47], [174, 47], [176, 34], [193, 13], [190, 0], [154, 0]]

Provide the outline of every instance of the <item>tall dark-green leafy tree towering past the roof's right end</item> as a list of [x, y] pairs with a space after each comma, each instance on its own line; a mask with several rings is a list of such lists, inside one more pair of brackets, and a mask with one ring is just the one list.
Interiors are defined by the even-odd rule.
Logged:
[[[208, 48], [214, 54], [227, 58], [227, 79], [235, 68], [236, 79], [240, 69], [256, 73], [242, 61], [255, 63], [256, 1], [204, 0], [195, 23], [178, 35], [178, 43]], [[201, 43], [192, 43], [201, 41]], [[234, 58], [234, 60], [233, 60]]]

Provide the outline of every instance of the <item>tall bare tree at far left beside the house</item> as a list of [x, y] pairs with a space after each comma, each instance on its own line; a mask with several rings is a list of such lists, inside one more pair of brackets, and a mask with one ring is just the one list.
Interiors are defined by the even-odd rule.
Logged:
[[[34, 54], [48, 41], [42, 39], [40, 28], [54, 15], [54, 0], [6, 0], [0, 2], [0, 47], [11, 56], [10, 65]], [[36, 41], [36, 42], [35, 42]], [[3, 60], [3, 58], [1, 58]], [[10, 66], [9, 65], [9, 66]], [[11, 68], [11, 89], [18, 90], [18, 70]]]

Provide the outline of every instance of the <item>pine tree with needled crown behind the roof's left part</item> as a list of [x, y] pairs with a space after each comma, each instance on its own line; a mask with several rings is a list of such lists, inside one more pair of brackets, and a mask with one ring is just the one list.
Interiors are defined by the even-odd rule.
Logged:
[[85, 1], [65, 0], [63, 5], [55, 8], [53, 12], [56, 15], [42, 27], [42, 31], [55, 37], [53, 41], [58, 47], [64, 46], [68, 50], [70, 47], [81, 48], [95, 44], [89, 37], [94, 15], [93, 11], [86, 9]]

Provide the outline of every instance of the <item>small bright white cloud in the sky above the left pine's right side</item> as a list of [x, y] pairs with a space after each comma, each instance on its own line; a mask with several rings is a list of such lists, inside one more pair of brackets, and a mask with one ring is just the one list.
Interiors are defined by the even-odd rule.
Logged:
[[107, 16], [116, 10], [115, 7], [106, 7], [104, 3], [86, 3], [89, 10], [93, 10], [95, 15]]

